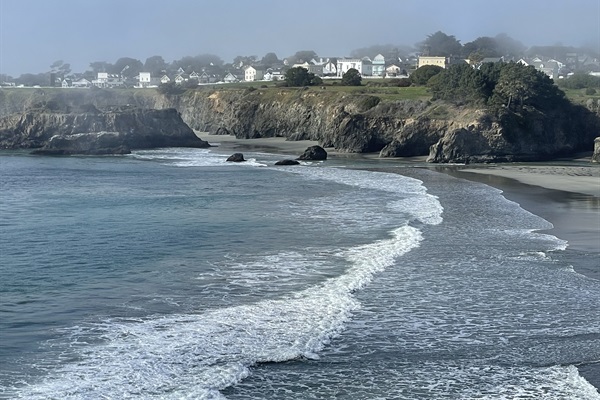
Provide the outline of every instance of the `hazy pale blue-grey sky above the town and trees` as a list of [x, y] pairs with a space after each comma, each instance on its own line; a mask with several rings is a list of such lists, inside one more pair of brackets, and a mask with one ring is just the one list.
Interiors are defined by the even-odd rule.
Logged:
[[0, 0], [0, 73], [47, 72], [57, 60], [83, 72], [153, 55], [341, 57], [438, 30], [463, 44], [506, 33], [526, 46], [600, 52], [600, 0]]

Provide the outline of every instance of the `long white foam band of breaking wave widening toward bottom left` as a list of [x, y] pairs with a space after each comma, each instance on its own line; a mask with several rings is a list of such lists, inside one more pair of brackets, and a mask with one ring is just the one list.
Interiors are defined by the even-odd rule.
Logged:
[[285, 298], [74, 328], [68, 357], [77, 361], [50, 370], [16, 397], [221, 398], [218, 391], [257, 362], [317, 359], [360, 306], [353, 292], [421, 240], [419, 230], [403, 226], [387, 239], [343, 250], [345, 274]]

